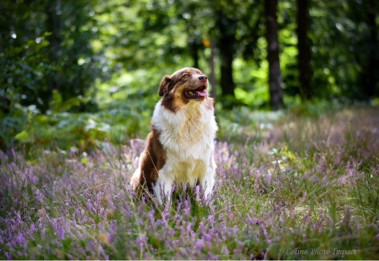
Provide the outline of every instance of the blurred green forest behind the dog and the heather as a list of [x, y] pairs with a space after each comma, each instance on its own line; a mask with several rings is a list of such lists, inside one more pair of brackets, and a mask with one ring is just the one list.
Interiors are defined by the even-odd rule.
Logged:
[[376, 0], [3, 0], [0, 148], [145, 138], [182, 67], [208, 75], [220, 135], [257, 111], [378, 105], [378, 26]]

